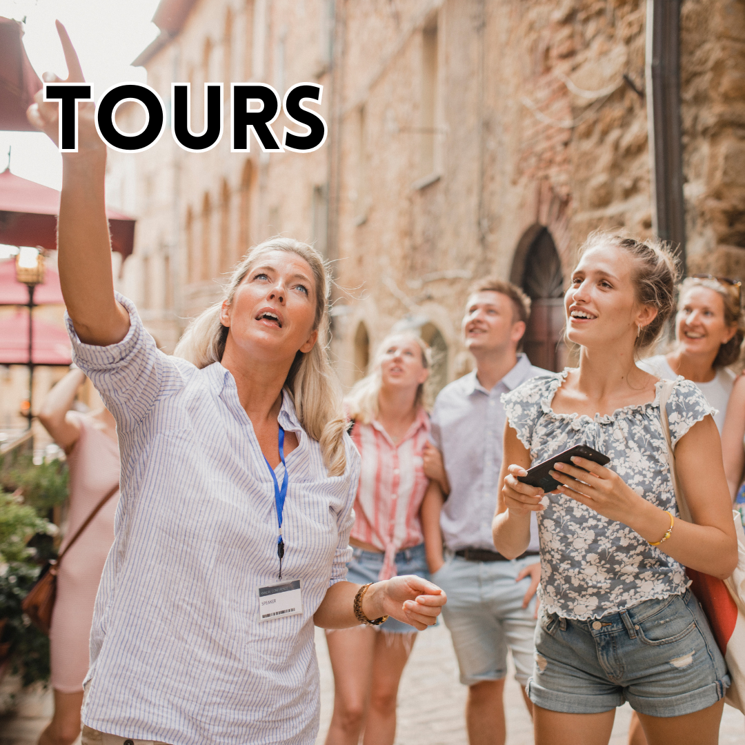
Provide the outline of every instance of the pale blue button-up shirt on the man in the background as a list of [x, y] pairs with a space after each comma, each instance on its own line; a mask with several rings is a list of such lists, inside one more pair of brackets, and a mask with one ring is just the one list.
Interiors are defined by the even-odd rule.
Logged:
[[[515, 367], [492, 390], [479, 383], [474, 370], [446, 385], [437, 396], [431, 436], [443, 454], [450, 481], [450, 495], [440, 514], [440, 527], [450, 551], [495, 550], [492, 518], [497, 507], [506, 420], [500, 398], [502, 393], [545, 372], [533, 367], [521, 352]], [[538, 551], [534, 514], [528, 550]]]

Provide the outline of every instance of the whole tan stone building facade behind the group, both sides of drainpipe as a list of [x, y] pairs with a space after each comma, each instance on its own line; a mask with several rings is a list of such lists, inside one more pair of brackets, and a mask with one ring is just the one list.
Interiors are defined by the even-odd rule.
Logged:
[[[171, 350], [221, 273], [282, 232], [333, 262], [346, 385], [396, 326], [432, 343], [439, 384], [462, 374], [466, 288], [487, 273], [530, 294], [526, 349], [560, 367], [577, 247], [596, 228], [653, 230], [647, 12], [644, 0], [162, 0], [161, 37], [138, 61], [167, 105], [174, 80], [280, 94], [317, 82], [329, 138], [267, 154], [256, 141], [230, 153], [223, 136], [192, 154], [166, 133], [114, 153], [109, 200], [139, 218], [121, 288]], [[682, 0], [680, 19], [688, 267], [742, 276], [745, 0]], [[138, 115], [122, 110], [122, 126]]]

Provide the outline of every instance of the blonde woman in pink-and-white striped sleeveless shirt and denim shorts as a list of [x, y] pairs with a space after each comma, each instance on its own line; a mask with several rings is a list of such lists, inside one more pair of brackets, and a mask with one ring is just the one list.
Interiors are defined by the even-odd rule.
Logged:
[[[422, 451], [431, 352], [410, 333], [386, 337], [346, 396], [352, 440], [362, 456], [355, 499], [354, 549], [347, 578], [361, 584], [396, 574], [428, 577], [425, 541], [440, 542], [440, 493], [429, 487]], [[434, 505], [434, 509], [432, 509]], [[399, 681], [416, 637], [409, 624], [329, 631], [334, 714], [326, 745], [393, 745]]]

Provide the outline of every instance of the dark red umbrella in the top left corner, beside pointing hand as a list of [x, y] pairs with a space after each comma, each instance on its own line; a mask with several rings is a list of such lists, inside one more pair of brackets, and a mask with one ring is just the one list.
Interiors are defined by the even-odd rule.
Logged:
[[26, 57], [18, 21], [0, 17], [0, 130], [36, 131], [26, 118], [42, 81]]

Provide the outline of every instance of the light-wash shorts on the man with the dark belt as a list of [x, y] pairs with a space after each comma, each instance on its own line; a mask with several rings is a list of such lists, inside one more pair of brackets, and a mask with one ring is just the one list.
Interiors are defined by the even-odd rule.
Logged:
[[448, 595], [443, 607], [460, 669], [460, 682], [475, 685], [507, 675], [507, 650], [515, 662], [515, 677], [527, 683], [533, 669], [536, 598], [527, 608], [522, 599], [530, 577], [516, 581], [538, 557], [478, 562], [452, 557], [431, 577]]

